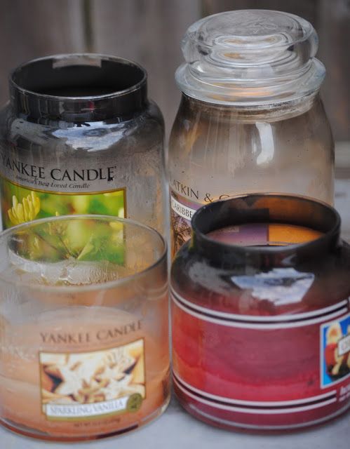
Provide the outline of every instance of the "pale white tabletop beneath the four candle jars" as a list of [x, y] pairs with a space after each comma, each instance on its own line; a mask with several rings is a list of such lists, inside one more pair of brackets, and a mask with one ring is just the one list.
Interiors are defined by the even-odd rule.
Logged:
[[[342, 215], [344, 239], [350, 242], [350, 146], [339, 146], [335, 207]], [[339, 168], [340, 167], [340, 168]], [[0, 427], [0, 449], [350, 449], [350, 412], [328, 424], [290, 434], [243, 434], [210, 427], [184, 412], [176, 399], [157, 420], [130, 434], [88, 443], [48, 443]]]

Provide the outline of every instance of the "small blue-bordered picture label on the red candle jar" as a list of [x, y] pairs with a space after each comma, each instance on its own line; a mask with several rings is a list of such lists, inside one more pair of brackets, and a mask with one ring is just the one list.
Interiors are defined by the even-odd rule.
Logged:
[[321, 387], [350, 377], [350, 314], [321, 327]]

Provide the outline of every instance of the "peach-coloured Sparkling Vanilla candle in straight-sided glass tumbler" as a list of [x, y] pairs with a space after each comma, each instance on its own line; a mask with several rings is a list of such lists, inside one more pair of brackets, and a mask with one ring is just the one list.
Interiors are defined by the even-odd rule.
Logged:
[[170, 400], [166, 243], [102, 215], [0, 236], [0, 422], [80, 441], [136, 429]]

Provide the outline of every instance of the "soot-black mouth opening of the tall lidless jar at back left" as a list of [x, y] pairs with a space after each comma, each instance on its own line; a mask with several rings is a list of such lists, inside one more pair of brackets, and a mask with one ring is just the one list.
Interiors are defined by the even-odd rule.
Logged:
[[13, 70], [11, 85], [29, 95], [57, 100], [111, 98], [144, 85], [147, 72], [109, 55], [72, 53], [26, 62]]

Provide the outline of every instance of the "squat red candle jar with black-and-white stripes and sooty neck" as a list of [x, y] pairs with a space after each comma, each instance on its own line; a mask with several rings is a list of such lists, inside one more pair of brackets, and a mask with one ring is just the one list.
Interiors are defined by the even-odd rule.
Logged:
[[227, 429], [319, 424], [350, 407], [350, 247], [301, 196], [217, 201], [192, 219], [171, 273], [182, 406]]

